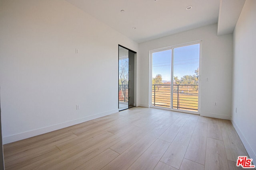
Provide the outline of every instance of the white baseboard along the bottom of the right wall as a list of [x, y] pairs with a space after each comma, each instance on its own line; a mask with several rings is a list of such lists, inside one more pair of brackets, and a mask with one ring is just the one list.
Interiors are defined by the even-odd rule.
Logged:
[[[240, 131], [239, 127], [233, 121], [232, 117], [231, 117], [231, 122], [232, 122], [234, 128], [236, 129], [236, 132], [237, 132], [238, 136], [240, 137], [242, 143], [244, 144], [244, 147], [245, 147], [247, 153], [249, 154], [250, 159], [252, 159], [253, 164], [256, 165], [256, 154], [254, 153], [254, 151], [250, 147], [249, 143], [247, 142], [247, 140], [244, 137], [243, 133]], [[245, 156], [245, 155], [241, 155], [241, 156]]]

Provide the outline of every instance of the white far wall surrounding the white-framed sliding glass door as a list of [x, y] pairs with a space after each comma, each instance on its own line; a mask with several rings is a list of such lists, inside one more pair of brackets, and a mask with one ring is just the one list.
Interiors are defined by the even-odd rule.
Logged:
[[[230, 119], [232, 34], [217, 36], [217, 24], [139, 44], [137, 91], [139, 106], [149, 106], [149, 51], [198, 40], [202, 40], [200, 114]], [[214, 106], [214, 102], [218, 102], [218, 106]]]

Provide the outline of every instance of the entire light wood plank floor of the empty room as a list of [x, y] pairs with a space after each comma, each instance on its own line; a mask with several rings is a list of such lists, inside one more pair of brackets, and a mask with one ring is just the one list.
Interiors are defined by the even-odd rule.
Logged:
[[4, 145], [6, 170], [236, 170], [228, 120], [133, 107]]

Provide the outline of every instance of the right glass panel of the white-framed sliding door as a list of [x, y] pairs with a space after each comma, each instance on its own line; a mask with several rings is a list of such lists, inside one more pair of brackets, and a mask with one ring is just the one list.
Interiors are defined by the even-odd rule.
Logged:
[[174, 48], [172, 108], [198, 111], [200, 44]]

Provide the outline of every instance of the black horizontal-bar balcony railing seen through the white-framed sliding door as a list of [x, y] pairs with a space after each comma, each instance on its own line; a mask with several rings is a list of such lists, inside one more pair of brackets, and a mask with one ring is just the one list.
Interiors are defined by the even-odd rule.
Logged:
[[198, 85], [173, 85], [171, 104], [171, 85], [152, 85], [152, 106], [171, 107], [183, 110], [198, 110]]

